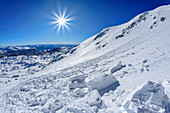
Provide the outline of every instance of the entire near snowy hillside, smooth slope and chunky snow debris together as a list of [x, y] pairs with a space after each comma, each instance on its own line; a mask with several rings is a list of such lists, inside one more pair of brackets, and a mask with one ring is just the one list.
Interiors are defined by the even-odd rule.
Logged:
[[1, 84], [1, 111], [169, 113], [169, 12], [103, 29], [29, 80]]

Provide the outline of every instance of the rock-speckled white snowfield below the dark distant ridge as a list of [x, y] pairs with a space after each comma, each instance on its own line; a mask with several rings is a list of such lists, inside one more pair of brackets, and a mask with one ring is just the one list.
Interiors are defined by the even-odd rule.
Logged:
[[27, 79], [28, 74], [34, 74], [45, 68], [50, 63], [65, 57], [69, 50], [63, 47], [60, 52], [46, 53], [43, 55], [20, 55], [0, 59], [0, 82], [7, 84], [16, 80]]

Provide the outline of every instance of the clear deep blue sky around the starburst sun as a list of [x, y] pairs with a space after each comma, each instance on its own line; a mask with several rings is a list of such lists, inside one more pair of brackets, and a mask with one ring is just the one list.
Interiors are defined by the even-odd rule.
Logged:
[[[103, 28], [170, 0], [0, 0], [0, 46], [39, 43], [81, 43]], [[49, 25], [52, 10], [67, 8], [75, 19], [71, 30]]]

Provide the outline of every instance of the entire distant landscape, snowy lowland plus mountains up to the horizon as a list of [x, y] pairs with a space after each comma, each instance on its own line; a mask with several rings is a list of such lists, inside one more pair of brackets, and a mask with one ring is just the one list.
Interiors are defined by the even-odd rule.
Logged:
[[[41, 50], [43, 49], [43, 51], [39, 50], [39, 47], [41, 47]], [[47, 47], [57, 48], [46, 50]], [[74, 47], [75, 45], [71, 44], [63, 46], [57, 44], [52, 46], [26, 45], [25, 47], [5, 47], [3, 49], [6, 52], [0, 53], [0, 78], [2, 77], [3, 82], [6, 84], [12, 81], [8, 80], [8, 78], [13, 78], [15, 81], [26, 79], [25, 75], [32, 75], [35, 72], [44, 69], [47, 65], [63, 59]], [[5, 78], [7, 80], [5, 80]]]

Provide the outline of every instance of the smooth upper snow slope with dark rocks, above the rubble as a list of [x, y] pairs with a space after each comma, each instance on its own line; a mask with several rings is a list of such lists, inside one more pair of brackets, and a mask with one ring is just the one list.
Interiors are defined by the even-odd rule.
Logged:
[[[129, 48], [131, 50], [137, 50], [135, 47], [145, 46], [145, 44], [155, 47], [164, 44], [169, 40], [168, 36], [170, 35], [168, 32], [168, 11], [169, 6], [162, 6], [153, 11], [139, 14], [125, 24], [103, 29], [100, 33], [90, 37], [76, 47], [75, 51], [67, 59], [64, 59], [61, 63], [58, 62], [59, 66], [56, 69], [72, 66], [119, 48], [124, 48], [124, 51], [126, 51], [125, 46], [127, 44], [134, 44], [134, 49]], [[136, 40], [138, 43], [136, 43]], [[72, 62], [69, 62], [70, 60]], [[50, 69], [53, 68], [50, 67]]]

